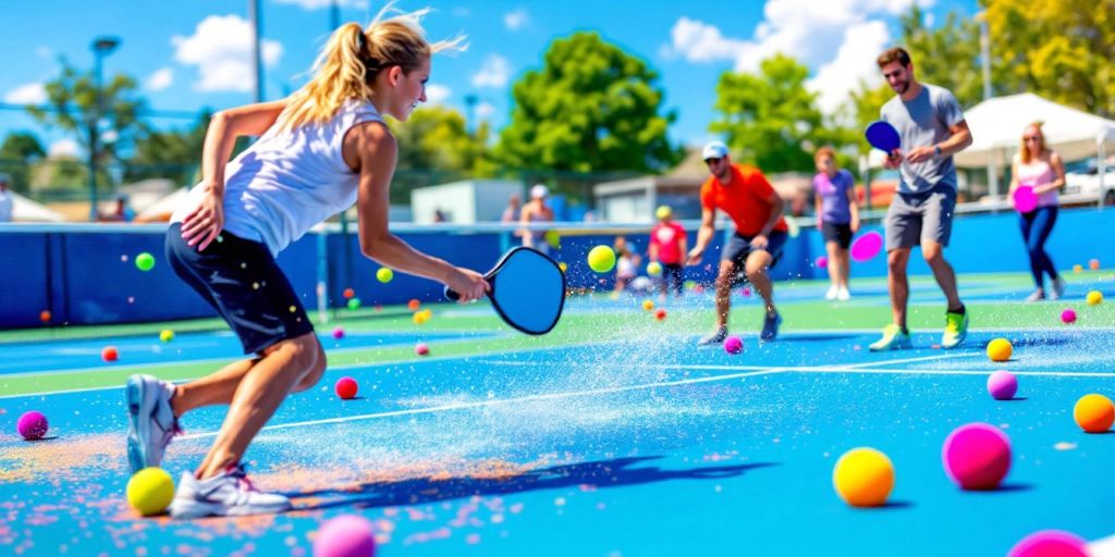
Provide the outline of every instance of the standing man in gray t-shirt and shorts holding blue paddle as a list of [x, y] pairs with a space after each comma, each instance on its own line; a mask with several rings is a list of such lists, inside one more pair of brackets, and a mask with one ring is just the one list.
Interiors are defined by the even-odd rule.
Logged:
[[894, 97], [880, 110], [883, 120], [899, 131], [902, 146], [889, 154], [883, 164], [901, 173], [898, 190], [886, 212], [888, 286], [894, 322], [871, 350], [910, 348], [906, 329], [906, 301], [910, 283], [906, 265], [910, 251], [921, 246], [925, 263], [933, 270], [937, 284], [948, 300], [941, 346], [953, 349], [968, 334], [968, 312], [957, 292], [957, 275], [944, 261], [944, 247], [952, 232], [957, 205], [957, 168], [952, 155], [972, 143], [971, 131], [960, 104], [948, 89], [920, 84], [913, 76], [910, 55], [901, 48], [883, 52], [876, 60]]

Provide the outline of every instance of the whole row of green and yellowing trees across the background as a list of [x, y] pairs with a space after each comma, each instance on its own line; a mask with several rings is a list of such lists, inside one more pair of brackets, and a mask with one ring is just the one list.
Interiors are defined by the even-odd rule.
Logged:
[[[981, 8], [991, 41], [995, 95], [1032, 91], [1115, 116], [1115, 0], [983, 0]], [[900, 19], [895, 43], [910, 51], [919, 79], [948, 87], [962, 106], [979, 102], [980, 23], [956, 12], [937, 26], [925, 25], [925, 19], [914, 4]], [[844, 165], [854, 168], [854, 158], [867, 149], [860, 130], [878, 118], [879, 107], [893, 92], [881, 80], [859, 82], [844, 107], [823, 114], [817, 94], [806, 87], [808, 74], [801, 61], [780, 53], [755, 72], [724, 72], [708, 130], [721, 135], [737, 158], [765, 172], [811, 172], [813, 150], [822, 145], [833, 146]], [[88, 127], [99, 126], [101, 136], [110, 139], [98, 146], [103, 168], [123, 166], [125, 180], [196, 179], [207, 111], [182, 128], [156, 128], [144, 118], [146, 101], [135, 79], [116, 75], [104, 87], [104, 108], [94, 121], [98, 113], [93, 78], [65, 60], [46, 90], [48, 109], [31, 108], [31, 116], [69, 131], [83, 147]], [[406, 126], [392, 123], [403, 182], [403, 187], [392, 188], [397, 201], [406, 201], [410, 187], [435, 178], [660, 173], [685, 156], [685, 147], [669, 139], [677, 113], [663, 107], [659, 72], [597, 32], [555, 39], [541, 65], [513, 84], [511, 96], [508, 124], [498, 131], [485, 123], [471, 128], [459, 111], [444, 106], [416, 110]], [[17, 186], [35, 182], [33, 166], [43, 155], [28, 133], [9, 134], [0, 144], [0, 163], [22, 163], [17, 167], [29, 174], [22, 180], [17, 176]], [[81, 165], [74, 165], [38, 179], [83, 185], [84, 173]], [[108, 182], [107, 176], [98, 179]]]

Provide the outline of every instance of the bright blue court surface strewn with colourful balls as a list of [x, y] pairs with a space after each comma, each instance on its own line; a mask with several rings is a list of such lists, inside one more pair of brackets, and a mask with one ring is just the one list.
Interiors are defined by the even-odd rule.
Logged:
[[[620, 304], [571, 303], [566, 320], [609, 303]], [[767, 344], [752, 331], [730, 355], [695, 345], [709, 301], [688, 303], [701, 325], [692, 334], [641, 316], [602, 340], [328, 371], [249, 449], [254, 482], [294, 498], [295, 510], [278, 516], [139, 518], [124, 498], [122, 388], [0, 397], [6, 424], [32, 409], [51, 422], [42, 441], [22, 441], [8, 426], [0, 434], [0, 544], [13, 555], [304, 556], [324, 519], [359, 514], [372, 521], [381, 556], [1005, 555], [1050, 528], [1112, 555], [1115, 434], [1084, 433], [1072, 417], [1079, 397], [1112, 393], [1112, 330], [1012, 331], [1014, 358], [1004, 363], [983, 350], [1006, 334], [996, 330], [977, 330], [956, 351], [931, 348], [940, 333], [925, 331], [914, 350], [871, 353], [875, 330], [787, 326]], [[323, 340], [338, 354], [417, 338], [353, 333], [345, 348]], [[188, 348], [194, 359], [236, 353], [225, 333], [178, 340], [175, 351]], [[67, 358], [103, 344], [8, 344], [0, 371], [84, 369], [88, 358]], [[175, 351], [136, 349], [143, 355], [130, 363], [142, 371], [185, 356]], [[987, 394], [997, 369], [1018, 375], [1015, 400]], [[342, 375], [359, 382], [358, 399], [336, 398]], [[185, 417], [164, 462], [175, 480], [201, 461], [223, 416], [211, 407]], [[963, 491], [942, 469], [946, 437], [969, 422], [1010, 438], [1012, 466], [998, 490]], [[894, 463], [885, 507], [852, 508], [834, 492], [833, 466], [856, 447]]]

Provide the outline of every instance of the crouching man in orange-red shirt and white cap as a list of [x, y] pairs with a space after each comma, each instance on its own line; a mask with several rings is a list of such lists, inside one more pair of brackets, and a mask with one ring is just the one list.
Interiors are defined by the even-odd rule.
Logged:
[[701, 153], [712, 176], [700, 188], [701, 224], [697, 245], [689, 252], [689, 265], [698, 265], [716, 232], [716, 211], [728, 214], [736, 233], [720, 253], [716, 277], [716, 330], [700, 344], [716, 344], [728, 336], [728, 311], [731, 309], [731, 283], [738, 268], [766, 302], [766, 317], [759, 339], [773, 341], [778, 335], [782, 316], [774, 306], [774, 285], [767, 268], [782, 253], [788, 237], [782, 218], [783, 201], [758, 168], [734, 165], [728, 146], [712, 141]]

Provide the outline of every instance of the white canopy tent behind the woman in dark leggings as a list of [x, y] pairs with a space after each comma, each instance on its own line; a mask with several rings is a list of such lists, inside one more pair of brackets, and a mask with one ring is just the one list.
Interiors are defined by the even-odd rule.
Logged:
[[[1022, 129], [1041, 121], [1046, 145], [1067, 160], [1098, 156], [1101, 165], [1106, 152], [1115, 152], [1115, 121], [1058, 105], [1049, 99], [1024, 92], [996, 97], [964, 111], [972, 131], [972, 145], [953, 155], [961, 168], [989, 167], [989, 193], [998, 195], [995, 168], [1006, 168], [1018, 152]], [[1103, 176], [1103, 168], [1101, 168]]]

